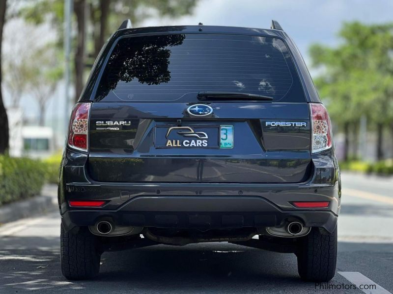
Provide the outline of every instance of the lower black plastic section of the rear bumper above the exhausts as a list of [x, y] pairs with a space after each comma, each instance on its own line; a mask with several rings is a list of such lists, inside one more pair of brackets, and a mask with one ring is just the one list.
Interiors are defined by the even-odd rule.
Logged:
[[282, 210], [258, 196], [140, 196], [116, 210], [73, 209], [62, 215], [66, 229], [104, 218], [118, 225], [179, 229], [278, 226], [295, 218], [332, 232], [337, 223], [330, 210]]

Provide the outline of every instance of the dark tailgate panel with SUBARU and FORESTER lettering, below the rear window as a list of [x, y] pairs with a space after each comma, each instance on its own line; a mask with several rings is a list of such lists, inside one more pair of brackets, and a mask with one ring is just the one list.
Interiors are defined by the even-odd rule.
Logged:
[[[90, 177], [100, 182], [299, 183], [311, 170], [307, 103], [95, 102]], [[192, 143], [194, 142], [194, 143]], [[199, 143], [198, 143], [199, 142]]]

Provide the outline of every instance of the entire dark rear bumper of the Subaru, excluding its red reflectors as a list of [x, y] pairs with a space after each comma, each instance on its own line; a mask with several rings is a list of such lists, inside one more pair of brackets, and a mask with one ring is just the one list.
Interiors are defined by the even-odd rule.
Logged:
[[[86, 175], [86, 155], [66, 152], [58, 201], [67, 230], [102, 218], [130, 226], [239, 228], [277, 226], [288, 218], [332, 232], [340, 209], [340, 179], [333, 151], [312, 157], [306, 183], [101, 183]], [[101, 208], [73, 208], [69, 200], [105, 200]], [[328, 208], [297, 209], [291, 201], [329, 201]]]

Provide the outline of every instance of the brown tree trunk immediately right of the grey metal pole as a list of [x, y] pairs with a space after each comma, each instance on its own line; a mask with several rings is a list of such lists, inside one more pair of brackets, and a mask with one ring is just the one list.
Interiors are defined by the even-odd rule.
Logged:
[[75, 101], [78, 101], [83, 90], [84, 49], [86, 35], [86, 0], [74, 1], [74, 12], [77, 17], [78, 36], [77, 50], [75, 52]]

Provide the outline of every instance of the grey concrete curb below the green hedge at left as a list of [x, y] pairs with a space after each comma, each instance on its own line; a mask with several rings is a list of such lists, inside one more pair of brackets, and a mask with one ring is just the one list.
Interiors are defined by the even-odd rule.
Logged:
[[55, 207], [51, 196], [35, 196], [0, 207], [0, 223], [17, 221], [43, 213]]

